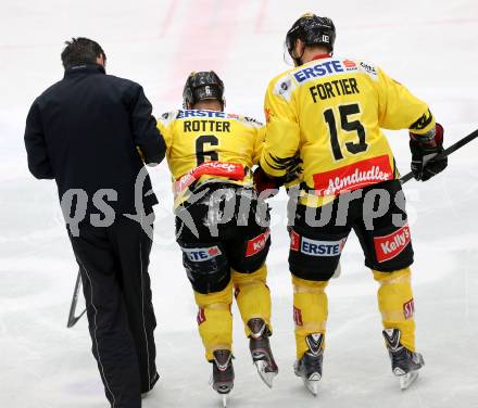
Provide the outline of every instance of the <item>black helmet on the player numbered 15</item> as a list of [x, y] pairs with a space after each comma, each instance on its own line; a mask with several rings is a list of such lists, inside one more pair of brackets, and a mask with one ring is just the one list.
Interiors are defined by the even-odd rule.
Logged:
[[326, 46], [330, 53], [334, 51], [334, 42], [336, 41], [336, 27], [334, 22], [328, 17], [319, 17], [313, 13], [302, 15], [286, 35], [286, 48], [289, 55], [301, 65], [300, 58], [293, 55], [297, 40], [301, 39], [305, 46]]

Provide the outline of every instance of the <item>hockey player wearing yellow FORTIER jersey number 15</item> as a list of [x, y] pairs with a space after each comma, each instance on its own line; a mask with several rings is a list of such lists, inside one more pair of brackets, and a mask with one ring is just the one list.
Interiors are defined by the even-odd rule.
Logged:
[[256, 179], [284, 181], [295, 173], [299, 184], [289, 222], [294, 370], [316, 394], [325, 289], [353, 228], [379, 283], [392, 371], [407, 387], [424, 365], [415, 352], [413, 250], [400, 176], [380, 128], [410, 129], [412, 170], [424, 181], [446, 167], [446, 158], [433, 158], [443, 151], [443, 129], [426, 103], [375, 64], [332, 58], [335, 38], [329, 18], [301, 16], [286, 37], [295, 67], [274, 78], [265, 95], [266, 137]]

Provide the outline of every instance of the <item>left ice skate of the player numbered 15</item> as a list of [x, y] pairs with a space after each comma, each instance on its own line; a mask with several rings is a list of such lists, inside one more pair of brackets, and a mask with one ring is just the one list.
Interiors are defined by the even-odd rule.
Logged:
[[293, 365], [295, 375], [301, 377], [305, 387], [314, 395], [317, 395], [318, 381], [322, 378], [322, 361], [324, 358], [324, 334], [314, 333], [305, 337], [309, 350], [300, 360]]

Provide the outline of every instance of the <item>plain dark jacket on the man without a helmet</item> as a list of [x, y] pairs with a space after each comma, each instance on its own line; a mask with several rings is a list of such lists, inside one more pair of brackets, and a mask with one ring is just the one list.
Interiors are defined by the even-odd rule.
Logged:
[[[47, 89], [30, 107], [25, 146], [28, 168], [39, 179], [55, 179], [60, 199], [70, 189], [88, 194], [87, 214], [100, 189], [113, 189], [117, 201], [108, 203], [120, 214], [135, 213], [135, 181], [144, 163], [160, 163], [166, 146], [151, 116], [151, 104], [141, 86], [105, 75], [100, 65], [65, 71], [64, 78]], [[158, 203], [148, 194], [143, 206]]]

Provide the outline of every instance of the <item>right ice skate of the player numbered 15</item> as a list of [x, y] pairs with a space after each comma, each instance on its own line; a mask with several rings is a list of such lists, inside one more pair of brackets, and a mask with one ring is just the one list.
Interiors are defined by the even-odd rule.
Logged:
[[392, 362], [392, 371], [400, 379], [400, 388], [408, 388], [418, 378], [418, 370], [425, 366], [419, 353], [411, 352], [400, 343], [399, 329], [383, 330], [383, 337]]

